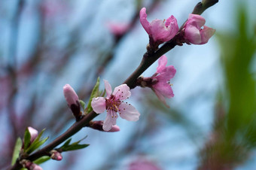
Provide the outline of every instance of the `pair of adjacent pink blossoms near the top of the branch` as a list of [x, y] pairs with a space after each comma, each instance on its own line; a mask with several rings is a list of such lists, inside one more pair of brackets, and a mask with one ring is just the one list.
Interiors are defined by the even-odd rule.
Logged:
[[[155, 19], [151, 23], [147, 20], [146, 8], [139, 13], [140, 22], [149, 36], [149, 48], [157, 50], [163, 42], [170, 41], [178, 34], [178, 23], [175, 17], [171, 16], [166, 21]], [[206, 20], [197, 14], [190, 14], [179, 36], [181, 42], [187, 44], [206, 44], [209, 38], [215, 33], [215, 29], [204, 26]], [[203, 29], [201, 27], [203, 26]]]

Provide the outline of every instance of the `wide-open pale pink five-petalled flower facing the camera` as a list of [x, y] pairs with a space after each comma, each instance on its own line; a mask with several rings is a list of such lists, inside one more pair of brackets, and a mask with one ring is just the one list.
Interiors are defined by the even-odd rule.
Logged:
[[114, 88], [112, 93], [111, 85], [107, 80], [104, 80], [105, 90], [107, 97], [97, 97], [92, 100], [92, 108], [96, 114], [102, 114], [107, 110], [107, 117], [103, 123], [103, 130], [109, 131], [112, 126], [117, 122], [117, 112], [120, 117], [129, 121], [139, 120], [139, 111], [136, 110], [132, 105], [123, 102], [131, 96], [130, 87], [126, 84], [121, 84], [119, 87]]

